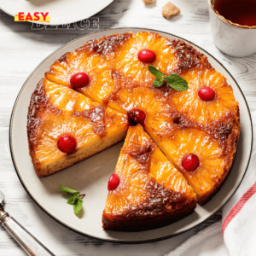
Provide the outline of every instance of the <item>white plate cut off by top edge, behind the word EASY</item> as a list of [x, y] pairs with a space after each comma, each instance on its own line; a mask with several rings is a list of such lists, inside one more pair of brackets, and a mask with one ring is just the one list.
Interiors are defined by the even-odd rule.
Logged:
[[90, 18], [114, 0], [0, 0], [0, 9], [15, 16], [19, 12], [49, 12], [49, 25], [65, 25]]

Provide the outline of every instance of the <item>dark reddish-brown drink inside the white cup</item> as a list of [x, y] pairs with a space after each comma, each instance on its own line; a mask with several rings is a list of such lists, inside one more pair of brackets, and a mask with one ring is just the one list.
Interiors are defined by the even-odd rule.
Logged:
[[233, 23], [256, 26], [256, 0], [216, 0], [214, 8]]

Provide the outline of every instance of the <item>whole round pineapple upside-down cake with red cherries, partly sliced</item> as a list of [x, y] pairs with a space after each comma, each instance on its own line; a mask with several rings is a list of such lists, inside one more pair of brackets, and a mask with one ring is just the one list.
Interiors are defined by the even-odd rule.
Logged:
[[[148, 66], [163, 75], [158, 86]], [[164, 81], [173, 74], [187, 90]], [[106, 229], [150, 228], [209, 201], [235, 159], [239, 106], [205, 55], [152, 32], [85, 43], [55, 61], [32, 95], [27, 132], [38, 177], [118, 143], [127, 130], [108, 181]]]

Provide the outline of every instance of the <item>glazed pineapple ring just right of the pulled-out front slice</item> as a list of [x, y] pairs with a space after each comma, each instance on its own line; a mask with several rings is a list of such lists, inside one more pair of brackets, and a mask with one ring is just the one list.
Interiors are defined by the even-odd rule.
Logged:
[[[223, 149], [204, 131], [175, 131], [173, 137], [166, 138], [160, 143], [160, 148], [172, 164], [183, 173], [201, 204], [215, 192], [214, 187], [221, 183], [227, 174]], [[200, 166], [194, 172], [188, 172], [183, 168], [182, 162], [186, 154], [195, 154], [199, 158]]]

